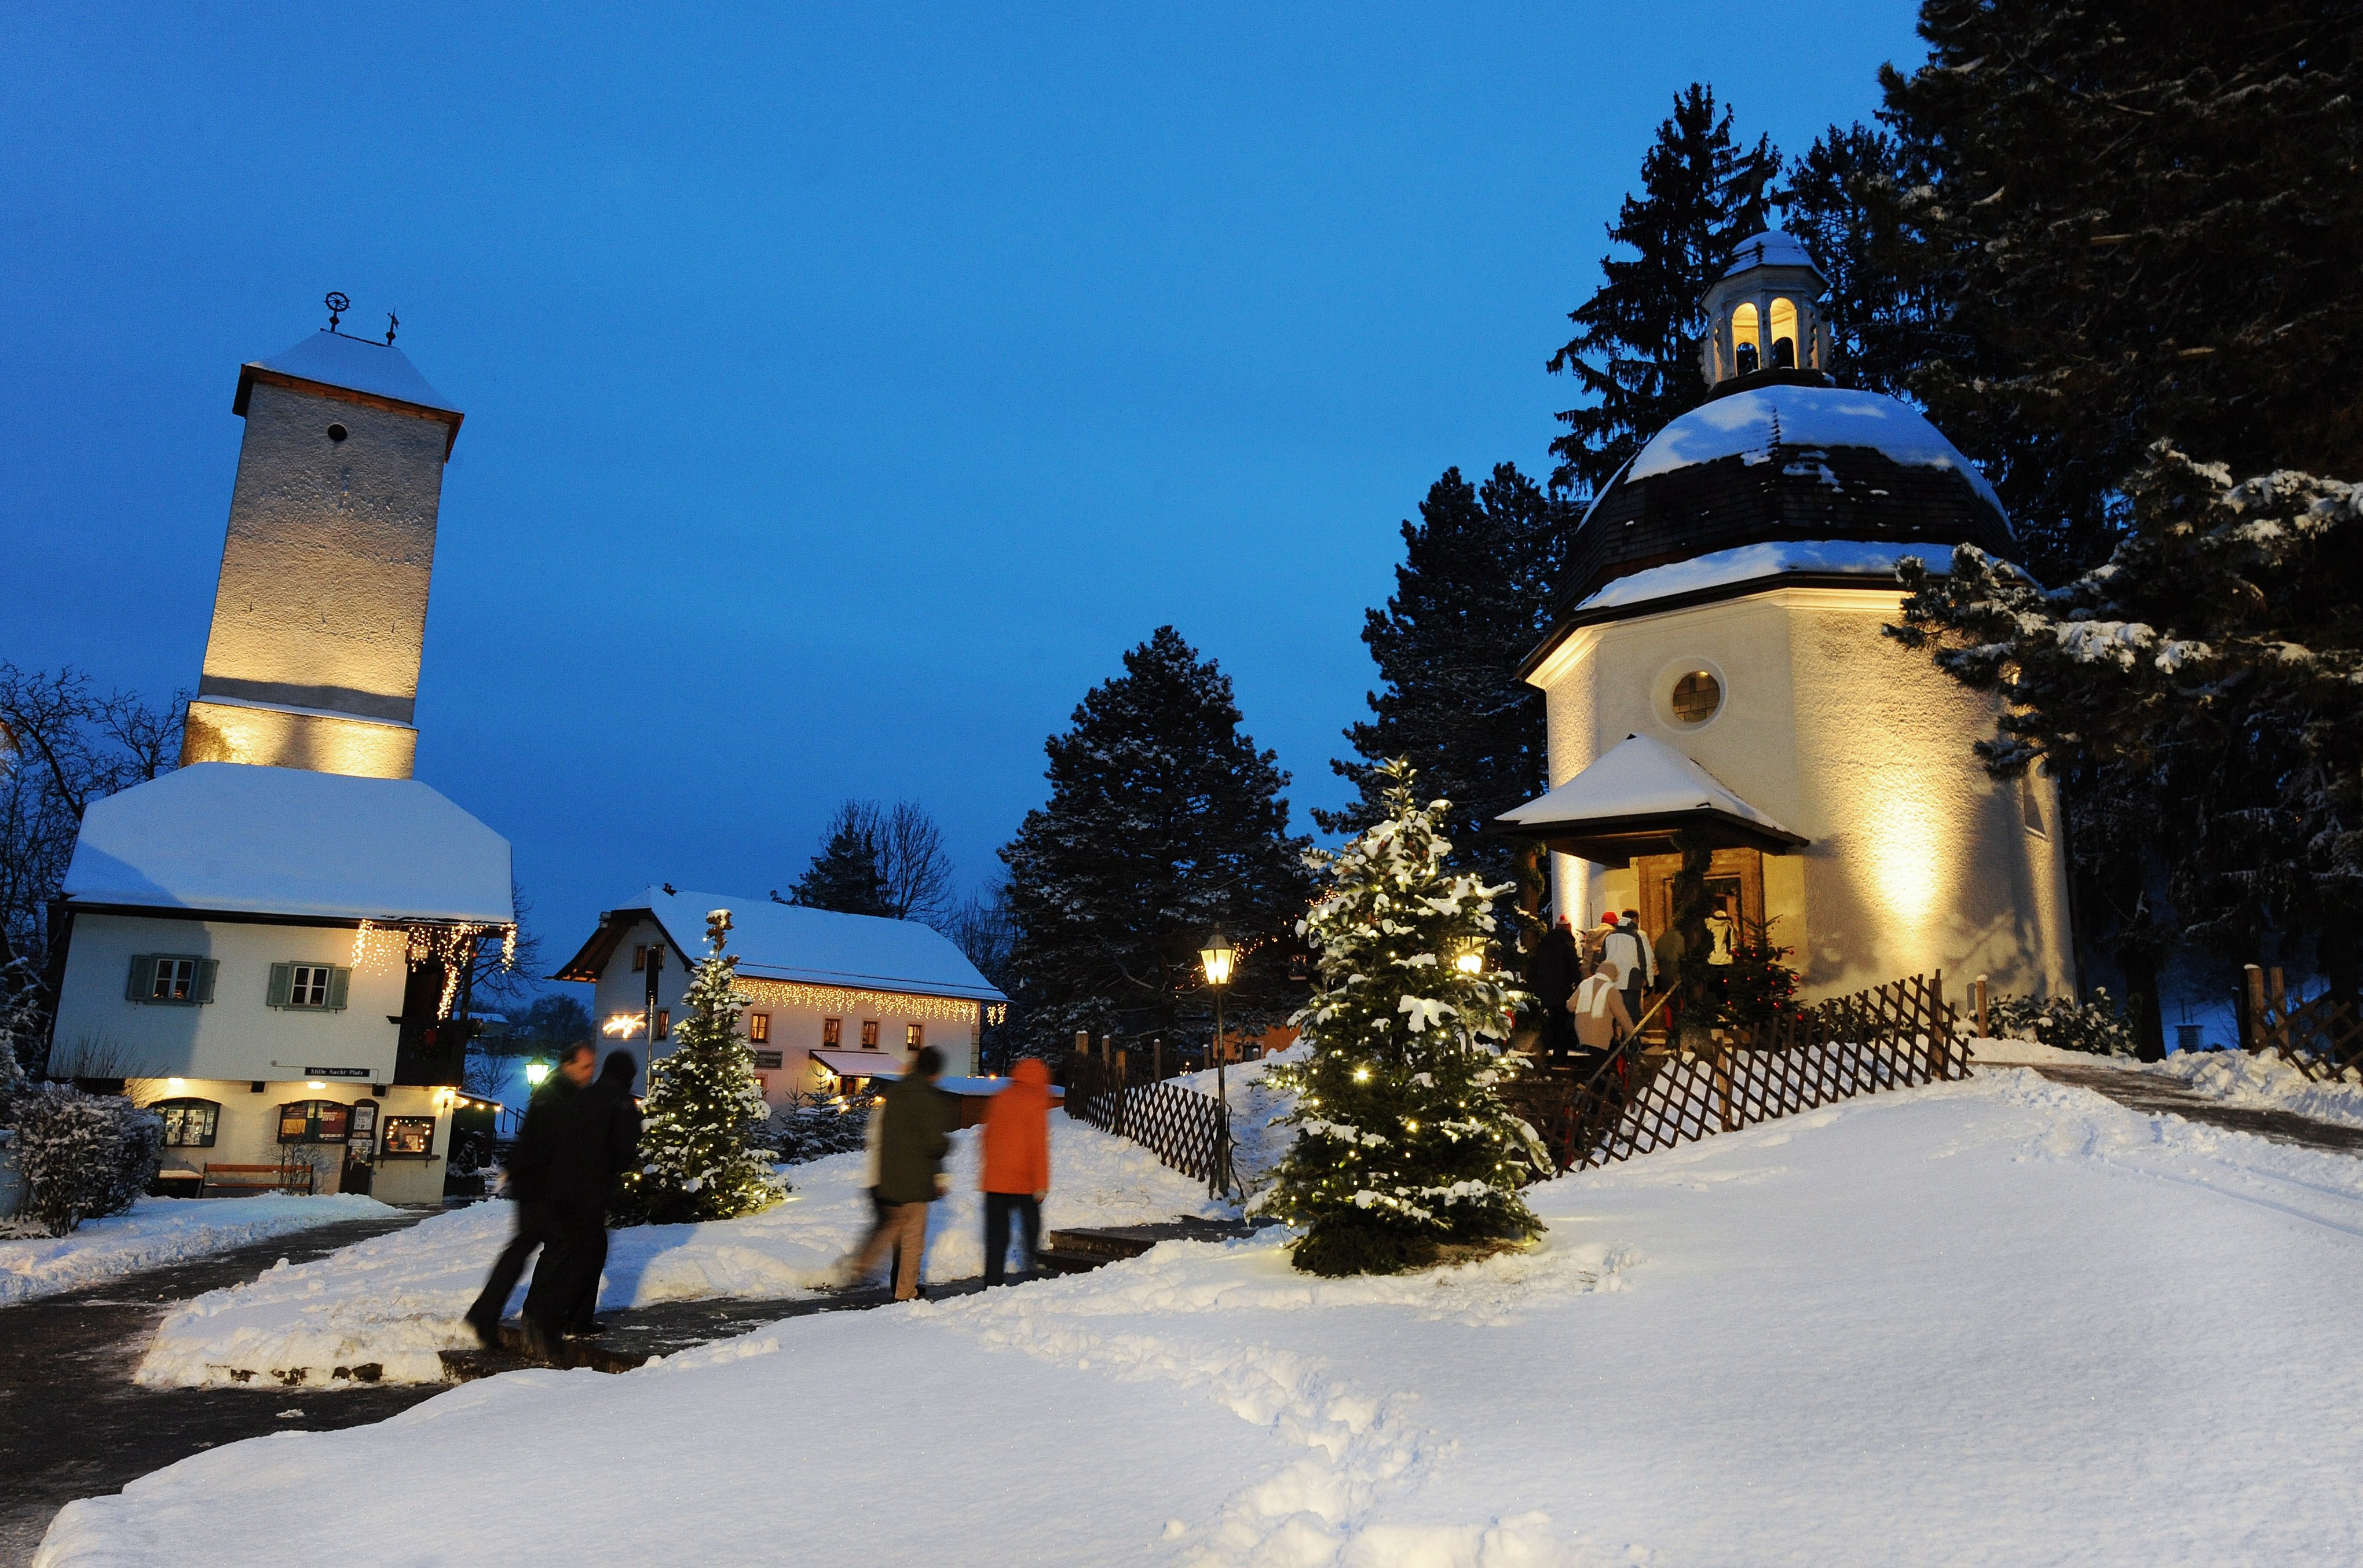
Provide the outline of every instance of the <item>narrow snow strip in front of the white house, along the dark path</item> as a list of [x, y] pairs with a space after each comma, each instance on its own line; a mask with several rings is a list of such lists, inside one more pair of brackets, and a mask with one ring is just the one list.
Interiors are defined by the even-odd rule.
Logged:
[[392, 1214], [373, 1197], [260, 1193], [255, 1197], [142, 1197], [128, 1214], [83, 1221], [73, 1235], [0, 1240], [0, 1306], [80, 1289], [135, 1268], [229, 1252], [288, 1230]]

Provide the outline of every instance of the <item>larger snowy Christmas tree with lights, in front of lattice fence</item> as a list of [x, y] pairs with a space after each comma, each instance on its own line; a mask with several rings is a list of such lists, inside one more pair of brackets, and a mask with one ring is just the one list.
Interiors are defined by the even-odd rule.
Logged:
[[1444, 1247], [1541, 1233], [1517, 1188], [1550, 1174], [1534, 1129], [1496, 1093], [1524, 999], [1493, 966], [1493, 900], [1508, 886], [1451, 874], [1446, 801], [1418, 805], [1385, 763], [1387, 817], [1335, 855], [1300, 923], [1319, 989], [1295, 1015], [1311, 1058], [1276, 1067], [1300, 1133], [1259, 1207], [1302, 1226], [1295, 1266], [1321, 1275], [1425, 1268]]

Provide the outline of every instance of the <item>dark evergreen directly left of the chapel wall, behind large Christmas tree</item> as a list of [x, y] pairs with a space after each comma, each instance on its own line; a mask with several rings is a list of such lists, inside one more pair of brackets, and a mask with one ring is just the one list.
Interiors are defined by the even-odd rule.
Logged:
[[1404, 758], [1451, 801], [1456, 867], [1491, 881], [1517, 869], [1517, 845], [1489, 838], [1491, 819], [1543, 791], [1543, 694], [1517, 678], [1550, 621], [1564, 557], [1567, 508], [1512, 463], [1484, 489], [1446, 468], [1420, 520], [1404, 522], [1404, 564], [1385, 609], [1363, 614], [1378, 664], [1371, 723], [1347, 727], [1359, 763], [1330, 763], [1361, 798], [1316, 810], [1330, 834], [1359, 834], [1387, 815], [1380, 763]]

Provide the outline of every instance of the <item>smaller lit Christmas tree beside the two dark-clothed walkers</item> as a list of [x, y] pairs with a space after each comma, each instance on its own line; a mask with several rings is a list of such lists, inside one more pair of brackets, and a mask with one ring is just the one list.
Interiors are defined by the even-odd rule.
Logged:
[[716, 909], [673, 1053], [647, 1065], [640, 1169], [624, 1174], [614, 1204], [626, 1223], [737, 1219], [780, 1202], [773, 1150], [759, 1148], [770, 1108], [737, 1027], [747, 997], [728, 942], [730, 912]]

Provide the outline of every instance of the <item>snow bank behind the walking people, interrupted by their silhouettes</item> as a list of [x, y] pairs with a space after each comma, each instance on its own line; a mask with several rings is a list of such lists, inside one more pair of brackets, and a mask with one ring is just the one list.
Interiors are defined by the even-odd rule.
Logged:
[[[929, 1214], [929, 1278], [957, 1280], [985, 1268], [976, 1138], [974, 1131], [955, 1136], [952, 1195]], [[862, 1155], [789, 1167], [789, 1178], [796, 1193], [749, 1219], [617, 1230], [600, 1306], [818, 1289], [827, 1268], [870, 1230]], [[1200, 1183], [1165, 1169], [1139, 1145], [1052, 1115], [1047, 1228], [1137, 1226], [1177, 1214], [1219, 1209], [1207, 1204]], [[484, 1287], [513, 1223], [506, 1202], [475, 1204], [198, 1296], [158, 1325], [137, 1377], [149, 1386], [206, 1386], [302, 1370], [302, 1381], [319, 1386], [333, 1381], [338, 1367], [373, 1363], [385, 1381], [442, 1381], [437, 1353], [475, 1344], [461, 1313]]]

